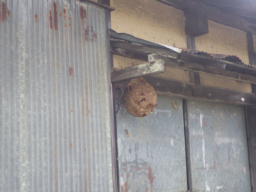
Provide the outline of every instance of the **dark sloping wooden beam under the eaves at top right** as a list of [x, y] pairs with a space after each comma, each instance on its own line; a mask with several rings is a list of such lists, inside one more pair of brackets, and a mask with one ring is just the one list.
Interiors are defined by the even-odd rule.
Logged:
[[233, 14], [223, 13], [218, 8], [214, 8], [209, 5], [205, 5], [200, 2], [191, 1], [191, 0], [156, 0], [163, 4], [173, 6], [180, 10], [188, 9], [200, 9], [202, 10], [209, 20], [212, 20], [216, 23], [220, 23], [226, 26], [240, 29], [245, 32], [251, 32], [256, 35], [256, 25], [251, 24], [246, 19], [243, 19], [239, 16]]

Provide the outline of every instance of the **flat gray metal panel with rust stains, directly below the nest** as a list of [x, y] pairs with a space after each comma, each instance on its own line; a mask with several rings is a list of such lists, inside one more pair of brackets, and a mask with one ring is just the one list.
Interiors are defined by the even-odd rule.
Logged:
[[186, 191], [182, 110], [181, 99], [163, 96], [158, 97], [156, 109], [143, 118], [130, 115], [121, 105], [117, 114], [121, 192]]

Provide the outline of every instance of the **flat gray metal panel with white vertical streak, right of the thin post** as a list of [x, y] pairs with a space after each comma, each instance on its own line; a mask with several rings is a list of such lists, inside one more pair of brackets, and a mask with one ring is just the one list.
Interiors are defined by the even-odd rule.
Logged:
[[244, 108], [187, 106], [193, 191], [251, 191]]

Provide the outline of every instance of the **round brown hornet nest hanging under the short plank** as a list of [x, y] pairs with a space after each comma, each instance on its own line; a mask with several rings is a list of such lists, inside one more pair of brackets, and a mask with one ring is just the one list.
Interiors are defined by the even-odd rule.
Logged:
[[157, 94], [152, 85], [143, 77], [134, 78], [127, 84], [124, 105], [131, 115], [145, 117], [157, 106]]

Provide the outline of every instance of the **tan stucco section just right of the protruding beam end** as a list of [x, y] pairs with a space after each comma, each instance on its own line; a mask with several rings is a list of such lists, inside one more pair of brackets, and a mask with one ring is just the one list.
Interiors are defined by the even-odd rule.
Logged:
[[246, 32], [208, 20], [209, 33], [196, 37], [197, 50], [236, 55], [249, 63]]

